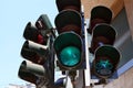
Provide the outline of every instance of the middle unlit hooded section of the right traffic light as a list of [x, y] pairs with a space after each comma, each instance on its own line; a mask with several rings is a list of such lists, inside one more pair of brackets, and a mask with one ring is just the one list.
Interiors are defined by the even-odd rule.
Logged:
[[106, 23], [100, 23], [94, 26], [90, 52], [94, 53], [99, 46], [104, 44], [113, 45], [116, 32], [113, 26]]

